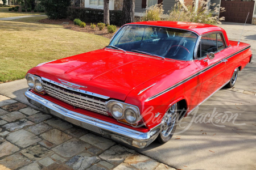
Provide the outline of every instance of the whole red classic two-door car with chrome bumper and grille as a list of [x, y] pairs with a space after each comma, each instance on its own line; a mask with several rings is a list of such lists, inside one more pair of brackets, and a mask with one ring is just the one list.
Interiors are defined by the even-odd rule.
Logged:
[[233, 87], [251, 58], [249, 44], [229, 41], [214, 25], [130, 23], [103, 49], [29, 70], [25, 96], [75, 125], [144, 148], [170, 140], [175, 122]]

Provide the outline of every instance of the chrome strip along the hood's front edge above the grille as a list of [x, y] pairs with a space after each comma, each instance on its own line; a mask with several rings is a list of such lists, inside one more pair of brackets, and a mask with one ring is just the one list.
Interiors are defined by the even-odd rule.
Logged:
[[80, 89], [77, 89], [77, 88], [65, 86], [64, 84], [57, 83], [57, 82], [55, 82], [55, 81], [53, 81], [53, 80], [50, 80], [50, 79], [47, 79], [47, 78], [43, 78], [43, 77], [42, 77], [42, 80], [44, 80], [44, 81], [46, 81], [46, 82], [49, 82], [49, 83], [52, 83], [52, 84], [55, 84], [56, 86], [60, 86], [60, 87], [66, 88], [66, 89], [68, 89], [68, 90], [80, 92], [80, 93], [82, 93], [82, 94], [86, 94], [86, 95], [90, 95], [90, 96], [99, 97], [99, 98], [101, 98], [101, 99], [109, 99], [109, 98], [110, 98], [110, 97], [108, 97], [108, 96], [99, 95], [99, 94], [96, 94], [96, 93], [93, 93], [93, 92], [89, 92], [89, 91], [80, 90]]

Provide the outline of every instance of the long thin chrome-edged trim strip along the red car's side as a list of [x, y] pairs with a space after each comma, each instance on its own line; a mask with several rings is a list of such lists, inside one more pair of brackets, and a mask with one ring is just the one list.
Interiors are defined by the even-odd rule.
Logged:
[[[251, 47], [251, 46], [246, 46], [246, 48], [243, 48], [243, 49], [239, 50], [238, 52], [233, 53], [233, 54], [231, 54], [231, 55], [228, 56], [228, 57], [225, 57], [225, 59], [231, 58], [231, 57], [235, 56], [236, 54], [241, 53], [242, 51], [244, 51], [244, 50], [246, 50], [246, 49], [248, 49], [248, 48], [250, 48], [250, 47]], [[153, 95], [153, 96], [151, 96], [151, 97], [148, 97], [148, 99], [146, 99], [145, 101], [150, 101], [150, 100], [152, 100], [152, 99], [155, 99], [156, 97], [159, 97], [160, 95], [165, 94], [166, 92], [168, 92], [168, 91], [170, 91], [170, 90], [176, 88], [177, 86], [180, 86], [181, 84], [187, 82], [188, 80], [191, 80], [191, 79], [195, 78], [196, 76], [198, 76], [198, 75], [204, 73], [205, 71], [211, 69], [212, 67], [214, 67], [214, 66], [216, 66], [216, 65], [218, 65], [218, 64], [220, 64], [220, 63], [221, 63], [221, 61], [218, 61], [218, 62], [214, 63], [213, 65], [210, 65], [210, 66], [206, 67], [205, 69], [200, 70], [199, 72], [197, 72], [197, 73], [195, 73], [195, 74], [189, 76], [188, 78], [186, 78], [186, 79], [184, 79], [184, 80], [181, 80], [180, 82], [174, 84], [173, 86], [166, 88], [166, 90], [163, 90], [162, 92], [159, 92], [158, 94], [155, 94], [155, 95]]]

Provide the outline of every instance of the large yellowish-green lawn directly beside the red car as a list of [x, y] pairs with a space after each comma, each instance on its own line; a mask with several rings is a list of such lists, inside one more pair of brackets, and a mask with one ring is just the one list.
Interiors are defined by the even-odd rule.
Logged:
[[45, 16], [0, 20], [0, 83], [24, 78], [39, 63], [100, 49], [110, 41], [62, 25], [36, 22], [42, 18]]

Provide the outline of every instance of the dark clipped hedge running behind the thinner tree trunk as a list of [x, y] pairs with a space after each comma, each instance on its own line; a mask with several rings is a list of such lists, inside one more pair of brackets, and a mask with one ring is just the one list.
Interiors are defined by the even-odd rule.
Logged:
[[[74, 20], [79, 18], [86, 23], [103, 23], [103, 10], [84, 8], [84, 7], [68, 7], [68, 18]], [[109, 11], [110, 24], [122, 25], [122, 11], [111, 10]]]

